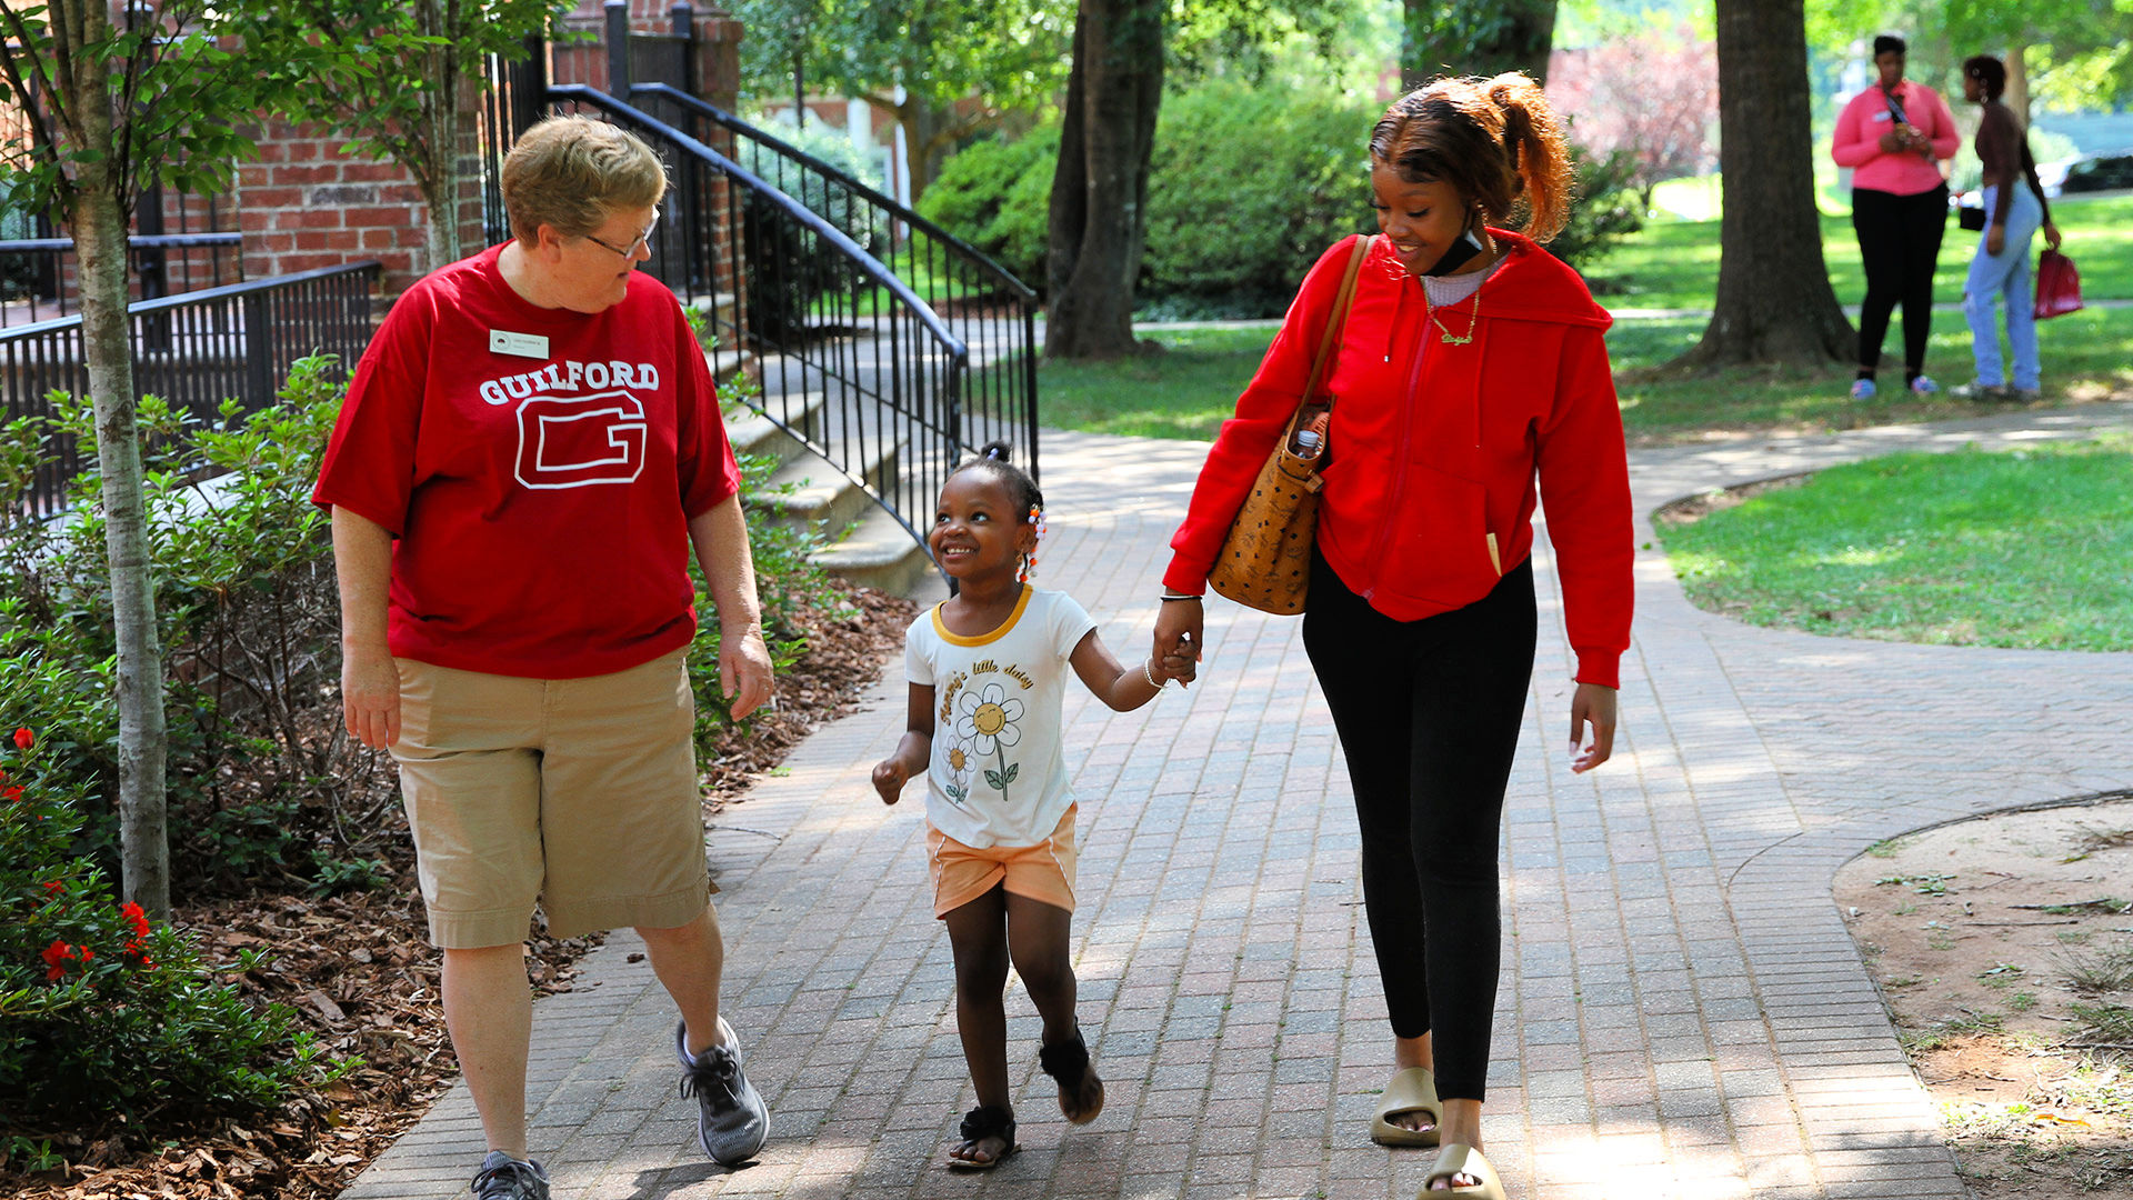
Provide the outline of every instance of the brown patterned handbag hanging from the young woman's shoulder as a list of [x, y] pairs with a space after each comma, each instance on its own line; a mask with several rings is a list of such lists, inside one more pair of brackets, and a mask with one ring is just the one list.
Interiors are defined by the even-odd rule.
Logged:
[[[1348, 303], [1354, 301], [1354, 280], [1369, 254], [1369, 237], [1354, 239], [1348, 254], [1348, 273], [1340, 284], [1340, 299], [1327, 316], [1325, 335], [1318, 340], [1318, 359], [1312, 363], [1312, 378], [1303, 384], [1297, 414], [1288, 419], [1288, 429], [1267, 463], [1258, 468], [1252, 491], [1244, 498], [1244, 508], [1231, 521], [1222, 538], [1222, 553], [1207, 570], [1207, 585], [1261, 613], [1293, 617], [1303, 611], [1303, 596], [1312, 585], [1312, 538], [1318, 534], [1318, 465], [1325, 461], [1325, 442], [1318, 453], [1303, 457], [1293, 446], [1297, 429], [1310, 425], [1318, 414], [1333, 410], [1333, 397], [1320, 397], [1327, 363], [1340, 344], [1342, 327], [1348, 322]], [[1316, 412], [1314, 412], [1316, 410]], [[1310, 416], [1305, 416], [1310, 414]]]

